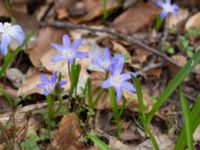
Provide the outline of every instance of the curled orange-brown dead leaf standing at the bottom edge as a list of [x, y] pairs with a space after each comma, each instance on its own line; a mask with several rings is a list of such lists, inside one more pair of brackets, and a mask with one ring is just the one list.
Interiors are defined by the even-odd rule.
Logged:
[[81, 135], [78, 117], [74, 113], [64, 116], [51, 143], [52, 148], [58, 150], [85, 149], [83, 142], [80, 141]]

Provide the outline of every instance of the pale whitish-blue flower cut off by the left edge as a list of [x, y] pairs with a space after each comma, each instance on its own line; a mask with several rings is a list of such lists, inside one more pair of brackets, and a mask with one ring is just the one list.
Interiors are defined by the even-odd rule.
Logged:
[[0, 36], [1, 36], [1, 45], [0, 51], [3, 56], [8, 52], [8, 45], [11, 43], [12, 38], [17, 40], [20, 44], [24, 41], [24, 32], [19, 25], [12, 25], [10, 23], [0, 23]]

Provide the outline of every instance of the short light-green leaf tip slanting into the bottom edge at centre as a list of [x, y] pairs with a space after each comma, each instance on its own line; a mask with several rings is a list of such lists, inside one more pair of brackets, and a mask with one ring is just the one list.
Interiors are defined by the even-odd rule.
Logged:
[[94, 133], [89, 133], [87, 136], [90, 140], [94, 142], [101, 150], [112, 150], [108, 145], [101, 141]]

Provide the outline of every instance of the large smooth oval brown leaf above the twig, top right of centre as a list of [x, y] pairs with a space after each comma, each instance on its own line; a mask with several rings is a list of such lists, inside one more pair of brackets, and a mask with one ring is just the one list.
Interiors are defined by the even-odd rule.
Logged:
[[154, 4], [139, 3], [117, 17], [113, 27], [124, 34], [133, 34], [152, 24], [159, 12]]

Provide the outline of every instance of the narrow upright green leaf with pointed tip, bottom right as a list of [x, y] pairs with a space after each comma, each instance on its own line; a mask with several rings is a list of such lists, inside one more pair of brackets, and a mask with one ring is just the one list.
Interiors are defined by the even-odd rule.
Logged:
[[182, 90], [180, 90], [180, 100], [181, 100], [181, 106], [182, 106], [183, 117], [184, 117], [184, 122], [185, 122], [185, 131], [186, 131], [188, 149], [193, 150], [194, 149], [193, 138], [192, 138], [192, 131], [191, 131], [190, 115], [189, 115], [190, 111], [189, 111], [187, 100]]

